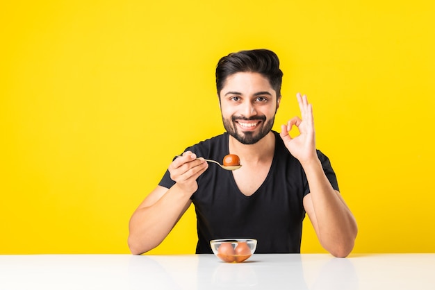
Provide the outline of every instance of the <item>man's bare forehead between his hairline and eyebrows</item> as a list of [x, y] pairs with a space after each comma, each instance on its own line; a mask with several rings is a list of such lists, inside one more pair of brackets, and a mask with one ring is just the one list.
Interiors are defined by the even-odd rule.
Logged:
[[265, 78], [262, 74], [255, 72], [238, 72], [227, 77], [224, 87], [222, 87], [221, 94], [225, 92], [244, 93], [252, 91], [274, 92], [274, 89], [270, 85], [268, 78]]

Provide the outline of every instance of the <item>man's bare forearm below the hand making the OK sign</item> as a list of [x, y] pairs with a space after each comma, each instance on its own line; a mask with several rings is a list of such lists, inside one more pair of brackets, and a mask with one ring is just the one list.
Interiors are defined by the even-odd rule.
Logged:
[[[311, 191], [310, 219], [322, 246], [332, 255], [345, 257], [354, 247], [357, 227], [352, 212], [334, 190], [317, 158], [303, 164]], [[313, 219], [315, 219], [313, 221]]]

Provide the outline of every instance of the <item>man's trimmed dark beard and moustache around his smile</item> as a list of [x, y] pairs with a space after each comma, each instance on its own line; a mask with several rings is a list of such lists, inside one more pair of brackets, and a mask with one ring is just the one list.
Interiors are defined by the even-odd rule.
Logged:
[[[268, 135], [270, 130], [272, 130], [273, 123], [274, 123], [275, 117], [272, 119], [266, 121], [265, 116], [256, 116], [252, 118], [244, 118], [244, 117], [231, 117], [230, 119], [224, 119], [222, 117], [222, 121], [224, 123], [224, 128], [227, 130], [229, 135], [233, 136], [238, 142], [245, 144], [245, 145], [252, 145], [256, 144], [256, 142], [260, 141], [265, 137], [265, 135]], [[260, 131], [258, 133], [254, 132], [240, 132], [238, 130], [238, 127], [236, 126], [237, 120], [244, 120], [244, 121], [262, 121], [262, 126], [260, 128]]]

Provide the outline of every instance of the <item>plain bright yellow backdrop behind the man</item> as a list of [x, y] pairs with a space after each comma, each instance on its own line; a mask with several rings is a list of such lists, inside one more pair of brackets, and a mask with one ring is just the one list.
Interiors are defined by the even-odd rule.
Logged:
[[[354, 253], [434, 253], [434, 3], [2, 1], [0, 253], [129, 253], [172, 157], [223, 131], [217, 60], [256, 48], [284, 71], [275, 130], [313, 103]], [[190, 208], [149, 253], [195, 242]]]

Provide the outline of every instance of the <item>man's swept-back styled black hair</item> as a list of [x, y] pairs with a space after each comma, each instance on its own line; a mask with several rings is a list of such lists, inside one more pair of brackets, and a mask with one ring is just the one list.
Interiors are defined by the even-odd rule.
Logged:
[[216, 66], [216, 88], [219, 97], [227, 78], [238, 72], [261, 74], [269, 80], [277, 97], [281, 96], [283, 72], [279, 69], [279, 58], [273, 51], [268, 49], [238, 51], [221, 58]]

